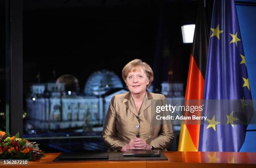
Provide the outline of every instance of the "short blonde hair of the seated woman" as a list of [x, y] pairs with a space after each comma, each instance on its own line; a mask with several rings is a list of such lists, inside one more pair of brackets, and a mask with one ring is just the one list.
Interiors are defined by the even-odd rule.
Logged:
[[150, 88], [150, 85], [154, 79], [153, 76], [153, 71], [151, 67], [146, 63], [141, 61], [140, 59], [134, 59], [133, 61], [130, 61], [128, 64], [126, 64], [123, 67], [122, 70], [122, 76], [123, 76], [123, 81], [125, 81], [126, 84], [126, 78], [130, 72], [136, 72], [139, 71], [139, 68], [142, 68], [145, 71], [145, 74], [147, 75], [149, 79], [149, 83], [147, 85], [148, 88]]

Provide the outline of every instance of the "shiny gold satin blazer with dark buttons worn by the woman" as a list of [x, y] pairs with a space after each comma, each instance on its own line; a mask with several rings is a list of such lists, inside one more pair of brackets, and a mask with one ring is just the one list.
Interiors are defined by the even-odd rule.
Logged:
[[156, 149], [164, 150], [174, 138], [172, 122], [155, 124], [151, 121], [151, 100], [162, 100], [162, 94], [146, 91], [146, 96], [137, 112], [131, 92], [115, 95], [110, 101], [102, 139], [112, 151], [121, 150], [137, 134]]

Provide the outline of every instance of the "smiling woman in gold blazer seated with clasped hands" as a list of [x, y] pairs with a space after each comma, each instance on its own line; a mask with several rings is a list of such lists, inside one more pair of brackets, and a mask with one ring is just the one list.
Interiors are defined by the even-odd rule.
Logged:
[[153, 81], [151, 67], [139, 59], [125, 65], [123, 80], [129, 92], [115, 95], [110, 101], [102, 138], [110, 150], [166, 149], [174, 138], [172, 123], [151, 122], [152, 100], [165, 100], [164, 95], [148, 92]]

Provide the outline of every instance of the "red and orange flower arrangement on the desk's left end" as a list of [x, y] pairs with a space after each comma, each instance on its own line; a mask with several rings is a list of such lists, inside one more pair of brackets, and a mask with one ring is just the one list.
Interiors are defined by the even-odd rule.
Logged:
[[40, 160], [45, 157], [36, 142], [30, 143], [24, 138], [0, 131], [0, 159], [29, 159]]

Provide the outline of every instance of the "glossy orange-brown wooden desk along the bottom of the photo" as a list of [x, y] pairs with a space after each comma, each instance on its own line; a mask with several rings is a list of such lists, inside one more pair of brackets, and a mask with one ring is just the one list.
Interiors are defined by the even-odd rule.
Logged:
[[[256, 168], [256, 153], [164, 152], [168, 160], [52, 162], [60, 153], [46, 153], [26, 168]], [[20, 168], [9, 165], [7, 168]]]

